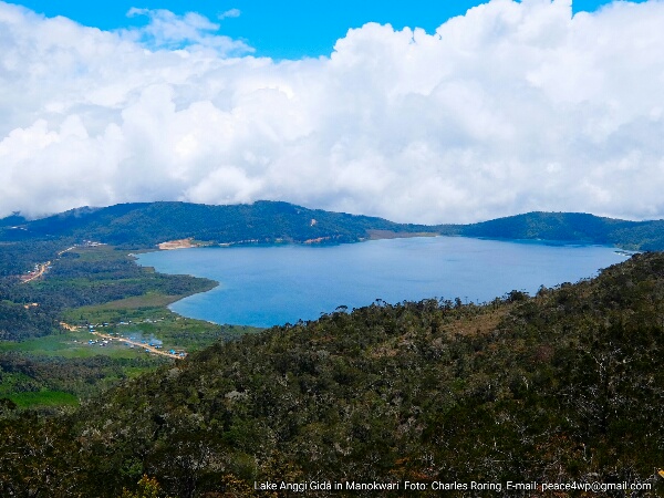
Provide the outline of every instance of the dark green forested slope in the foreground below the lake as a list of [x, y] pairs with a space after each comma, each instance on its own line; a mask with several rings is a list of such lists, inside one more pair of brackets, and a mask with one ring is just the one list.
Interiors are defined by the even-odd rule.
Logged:
[[308, 494], [408, 496], [407, 480], [502, 484], [445, 496], [664, 496], [663, 343], [661, 253], [484, 305], [340, 309], [218, 343], [62, 418], [3, 402], [0, 494], [267, 497], [298, 494], [255, 483], [330, 481], [402, 487]]

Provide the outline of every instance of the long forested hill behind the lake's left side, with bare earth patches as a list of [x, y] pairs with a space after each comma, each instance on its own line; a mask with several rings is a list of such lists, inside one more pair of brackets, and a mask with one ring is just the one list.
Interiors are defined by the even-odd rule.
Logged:
[[381, 218], [307, 209], [288, 203], [208, 206], [186, 203], [121, 204], [79, 208], [23, 224], [0, 220], [0, 240], [53, 237], [92, 239], [124, 247], [154, 247], [167, 240], [195, 238], [217, 243], [253, 241], [356, 241], [367, 230], [422, 231]]

